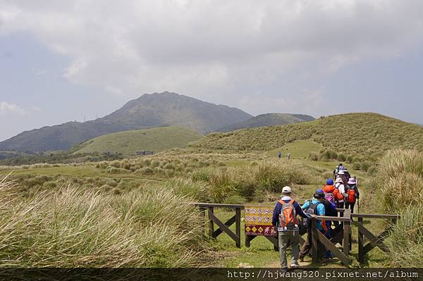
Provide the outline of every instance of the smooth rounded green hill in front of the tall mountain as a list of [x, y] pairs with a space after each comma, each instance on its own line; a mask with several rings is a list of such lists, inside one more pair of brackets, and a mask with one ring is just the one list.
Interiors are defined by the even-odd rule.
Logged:
[[201, 137], [202, 135], [185, 127], [155, 127], [95, 137], [76, 146], [73, 151], [75, 153], [111, 152], [124, 155], [135, 154], [135, 151], [139, 150], [159, 152], [186, 146], [189, 142]]

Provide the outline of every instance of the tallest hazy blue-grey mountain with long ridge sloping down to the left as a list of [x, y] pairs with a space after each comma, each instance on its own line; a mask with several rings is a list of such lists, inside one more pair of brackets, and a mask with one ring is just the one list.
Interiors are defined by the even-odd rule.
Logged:
[[201, 134], [251, 118], [238, 108], [216, 105], [171, 92], [143, 94], [96, 120], [44, 126], [0, 142], [4, 151], [52, 151], [70, 149], [111, 132], [180, 125]]

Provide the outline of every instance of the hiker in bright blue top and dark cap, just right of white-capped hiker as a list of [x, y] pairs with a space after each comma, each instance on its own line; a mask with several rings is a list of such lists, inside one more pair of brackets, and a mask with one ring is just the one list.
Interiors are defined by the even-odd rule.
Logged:
[[[302, 210], [305, 210], [306, 214], [309, 215], [317, 215], [317, 216], [325, 216], [326, 211], [324, 207], [324, 195], [320, 193], [315, 193], [313, 195], [312, 200], [305, 201], [305, 204], [301, 206]], [[304, 220], [303, 220], [304, 221]], [[300, 261], [304, 261], [304, 257], [309, 253], [310, 249], [312, 249], [312, 225], [311, 220], [305, 220], [307, 223], [307, 240], [302, 244], [300, 250]], [[324, 220], [319, 220], [317, 222], [317, 229], [323, 233], [326, 237], [330, 237], [330, 232], [326, 227], [326, 222]], [[319, 246], [319, 245], [317, 245]]]

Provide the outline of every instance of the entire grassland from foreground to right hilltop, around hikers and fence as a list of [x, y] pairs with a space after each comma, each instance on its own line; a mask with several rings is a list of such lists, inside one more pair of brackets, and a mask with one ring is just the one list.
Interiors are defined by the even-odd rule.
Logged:
[[[338, 115], [336, 118], [339, 118], [339, 116], [343, 115]], [[397, 144], [398, 146], [415, 146], [419, 148], [419, 145], [423, 143], [421, 135], [419, 135], [419, 130], [421, 129], [416, 130], [414, 125], [408, 125], [391, 118], [379, 118], [379, 115], [372, 114], [345, 116], [347, 117], [346, 120], [355, 118], [355, 122], [359, 122], [362, 120], [361, 118], [367, 120], [368, 118], [377, 117], [376, 120], [380, 122], [374, 121], [376, 124], [368, 124], [374, 128], [379, 128], [379, 126], [388, 126], [389, 128], [389, 126], [397, 124], [398, 130], [391, 130], [393, 135], [386, 141], [387, 144], [383, 144], [384, 146], [382, 147], [384, 149]], [[300, 123], [298, 124], [300, 129], [298, 127], [293, 127], [295, 130], [289, 129], [292, 130], [290, 134], [301, 135], [308, 131], [317, 131], [322, 125], [321, 123], [324, 122], [335, 126], [333, 124], [335, 121], [328, 117], [311, 123]], [[364, 120], [362, 122], [365, 123]], [[361, 126], [364, 126], [365, 129], [366, 124]], [[3, 175], [14, 169], [11, 179], [19, 187], [18, 189], [15, 189], [16, 187], [13, 187], [13, 189], [9, 189], [9, 187], [1, 189], [3, 199], [0, 200], [3, 200], [1, 202], [6, 204], [4, 206], [7, 206], [7, 212], [2, 213], [1, 216], [3, 225], [11, 225], [8, 223], [16, 221], [12, 220], [12, 218], [21, 218], [22, 224], [18, 225], [19, 227], [30, 227], [34, 231], [37, 230], [40, 233], [37, 241], [44, 243], [42, 245], [46, 246], [47, 241], [51, 240], [56, 246], [54, 249], [58, 250], [50, 251], [45, 247], [40, 247], [37, 255], [42, 256], [40, 253], [45, 251], [46, 256], [44, 258], [47, 259], [42, 260], [38, 258], [39, 256], [31, 256], [30, 251], [27, 249], [34, 246], [32, 244], [34, 241], [23, 235], [22, 227], [18, 228], [17, 232], [13, 232], [12, 227], [9, 227], [6, 230], [0, 230], [0, 241], [4, 241], [6, 245], [11, 245], [9, 247], [6, 246], [3, 250], [0, 248], [1, 262], [6, 260], [6, 256], [11, 256], [12, 258], [8, 261], [11, 261], [10, 264], [13, 265], [66, 266], [68, 264], [85, 267], [133, 266], [134, 263], [137, 263], [138, 266], [166, 267], [171, 266], [170, 264], [175, 266], [278, 266], [277, 252], [273, 251], [273, 246], [266, 239], [262, 239], [263, 237], [255, 239], [250, 249], [245, 248], [245, 246], [241, 249], [235, 248], [234, 243], [225, 234], [215, 240], [204, 238], [202, 235], [204, 232], [204, 221], [202, 218], [197, 217], [198, 213], [192, 208], [183, 207], [187, 204], [181, 203], [202, 201], [274, 206], [278, 196], [280, 196], [281, 187], [284, 185], [293, 187], [293, 197], [302, 203], [312, 196], [315, 189], [324, 185], [326, 179], [331, 177], [333, 167], [338, 163], [333, 158], [312, 159], [309, 158], [310, 154], [324, 155], [328, 149], [336, 149], [333, 151], [337, 155], [351, 153], [352, 156], [355, 156], [355, 151], [372, 150], [372, 154], [368, 155], [371, 161], [382, 155], [381, 147], [374, 147], [372, 144], [372, 142], [376, 142], [376, 145], [382, 143], [382, 140], [377, 139], [377, 137], [370, 139], [365, 144], [358, 142], [355, 138], [344, 138], [345, 141], [342, 145], [344, 150], [338, 151], [336, 146], [338, 144], [332, 144], [332, 142], [338, 142], [338, 139], [328, 138], [331, 139], [330, 142], [319, 141], [318, 134], [310, 135], [310, 137], [304, 139], [289, 139], [289, 142], [288, 139], [277, 139], [274, 140], [274, 143], [269, 143], [270, 145], [267, 145], [266, 142], [259, 142], [260, 145], [266, 146], [259, 147], [258, 150], [236, 149], [238, 147], [235, 145], [237, 142], [243, 140], [247, 144], [247, 142], [250, 142], [247, 140], [250, 137], [252, 139], [258, 137], [255, 135], [257, 132], [267, 133], [266, 130], [271, 130], [271, 132], [272, 130], [284, 131], [290, 126], [292, 125], [285, 125], [281, 128], [269, 127], [241, 130], [229, 134], [221, 134], [223, 137], [216, 137], [216, 135], [212, 134], [187, 149], [171, 149], [155, 156], [75, 165], [39, 164], [13, 168], [0, 167], [0, 174]], [[356, 127], [360, 126], [357, 125]], [[325, 132], [329, 131], [331, 129], [325, 130]], [[399, 144], [396, 140], [400, 135], [399, 132], [401, 134], [409, 134], [410, 143]], [[250, 134], [250, 137], [244, 136], [244, 134]], [[230, 139], [232, 137], [234, 138], [234, 145], [228, 143], [228, 147], [216, 149], [216, 146], [222, 143], [231, 142]], [[264, 134], [263, 137], [265, 141], [269, 140], [266, 139], [269, 135]], [[388, 136], [383, 135], [383, 137]], [[212, 142], [212, 139], [215, 138], [216, 142]], [[417, 139], [419, 138], [420, 142], [417, 144]], [[220, 139], [223, 139], [224, 142]], [[209, 144], [210, 147], [206, 144]], [[272, 145], [276, 147], [272, 148]], [[354, 148], [353, 146], [359, 147]], [[277, 158], [276, 154], [278, 151], [283, 151], [284, 157], [282, 159]], [[324, 153], [321, 153], [322, 151]], [[290, 161], [286, 159], [287, 153], [291, 154]], [[367, 154], [362, 153], [363, 155], [359, 157], [364, 161], [369, 161], [369, 158], [366, 158]], [[362, 266], [383, 267], [403, 266], [404, 264], [407, 266], [421, 266], [419, 261], [422, 258], [421, 255], [419, 256], [419, 251], [423, 252], [421, 251], [423, 226], [422, 220], [419, 218], [422, 216], [422, 210], [416, 206], [421, 206], [423, 203], [421, 196], [421, 189], [423, 188], [422, 159], [421, 151], [389, 152], [381, 156], [379, 163], [374, 163], [374, 165], [377, 165], [376, 174], [370, 173], [369, 169], [362, 169], [354, 162], [345, 164], [350, 173], [357, 175], [359, 179], [361, 193], [360, 212], [402, 213], [403, 218], [406, 219], [401, 220], [401, 223], [394, 229], [393, 236], [387, 239], [386, 243], [393, 251], [396, 251], [398, 246], [401, 249], [415, 249], [415, 251], [412, 251], [412, 255], [407, 255], [404, 251], [400, 252], [398, 256], [386, 255], [378, 249], [374, 249], [369, 253], [368, 262]], [[8, 199], [11, 199], [12, 193], [10, 192], [15, 194], [13, 196], [19, 195], [13, 201], [8, 201]], [[58, 198], [61, 203], [54, 203], [53, 199]], [[171, 198], [168, 205], [166, 205], [165, 198]], [[103, 204], [99, 202], [103, 202]], [[88, 216], [90, 215], [87, 211], [88, 205], [94, 206], [94, 214], [92, 216]], [[68, 206], [73, 207], [69, 209]], [[101, 223], [94, 223], [94, 220], [102, 220], [104, 212], [111, 213], [111, 218], [114, 219], [123, 218], [125, 217], [123, 213], [129, 212], [130, 208], [128, 206], [133, 206], [137, 210], [136, 214], [130, 217], [130, 220], [118, 220], [120, 224], [106, 220], [106, 223], [111, 225], [111, 229], [116, 230], [116, 235], [123, 235], [123, 241], [128, 242], [131, 249], [134, 249], [130, 252], [130, 256], [125, 258], [119, 254], [123, 251], [123, 248], [118, 249], [116, 258], [125, 261], [125, 263], [119, 265], [114, 263], [114, 260], [107, 258], [112, 248], [106, 243], [101, 245], [102, 253], [92, 251], [91, 256], [90, 251], [73, 251], [74, 249], [69, 247], [71, 243], [78, 242], [85, 246], [84, 249], [90, 249], [92, 247], [90, 239], [104, 239], [105, 235], [111, 233], [107, 232], [111, 231], [109, 229], [104, 230], [104, 233], [90, 234], [89, 230], [83, 228], [83, 225], [81, 226], [81, 218], [83, 216], [90, 218], [89, 221], [92, 227], [104, 227]], [[41, 220], [43, 212], [51, 214], [48, 210], [54, 208], [63, 208], [61, 211], [63, 213], [59, 213], [59, 221], [56, 221], [52, 216], [48, 216], [51, 224]], [[75, 211], [76, 208], [80, 208], [80, 211]], [[177, 235], [178, 225], [167, 224], [168, 222], [161, 220], [161, 218], [168, 219], [166, 213], [163, 212], [166, 208], [176, 208], [180, 211], [184, 216], [184, 218], [180, 218], [184, 224], [191, 223], [185, 216], [192, 216], [192, 219], [195, 219], [196, 231], [190, 232], [183, 228], [185, 231], [183, 233], [186, 234], [185, 238], [188, 240], [184, 240], [185, 238]], [[124, 210], [123, 213], [119, 213], [122, 210]], [[32, 218], [35, 218], [33, 223], [25, 217], [28, 212]], [[70, 220], [68, 216], [65, 216], [66, 213], [72, 214], [75, 219]], [[226, 209], [216, 209], [216, 215], [223, 219], [230, 218], [231, 212]], [[82, 230], [89, 234], [84, 236], [89, 241], [80, 242], [80, 240], [68, 239], [66, 235], [71, 235], [69, 237], [72, 237], [72, 235], [77, 233], [72, 232], [71, 228], [69, 228], [68, 232], [63, 232], [65, 236], [52, 237], [50, 235], [51, 232], [58, 232], [67, 226], [64, 223], [65, 219], [70, 220], [73, 225], [81, 226]], [[134, 222], [141, 223], [137, 224]], [[372, 221], [372, 223], [367, 221], [365, 223], [369, 230], [374, 231], [374, 233], [379, 232], [385, 226], [381, 221]], [[137, 231], [140, 231], [145, 237], [137, 240], [131, 236], [131, 231], [133, 230], [131, 227], [134, 227], [134, 225], [139, 226], [139, 228], [136, 228]], [[152, 228], [149, 228], [149, 225], [161, 227], [162, 231], [154, 232]], [[122, 234], [125, 227], [128, 227], [130, 231]], [[200, 231], [197, 232], [197, 228]], [[59, 231], [59, 233], [61, 232]], [[404, 235], [404, 233], [407, 233], [407, 235]], [[168, 249], [161, 247], [154, 235], [164, 237], [167, 243], [165, 245], [169, 247], [173, 247], [175, 243], [181, 243], [180, 248], [177, 247], [176, 250], [181, 254], [180, 259], [176, 260], [176, 256], [169, 253]], [[171, 238], [172, 235], [176, 235], [175, 240]], [[412, 235], [413, 239], [404, 239], [404, 237], [407, 238], [409, 235]], [[15, 240], [7, 240], [9, 237], [13, 237]], [[355, 225], [353, 225], [353, 239], [357, 240], [357, 228]], [[64, 242], [60, 244], [59, 242], [62, 240]], [[22, 247], [15, 248], [13, 245], [19, 244], [20, 241], [25, 243], [23, 243]], [[138, 244], [139, 242], [142, 245]], [[188, 252], [188, 244], [185, 244], [185, 242], [194, 245], [193, 251]], [[25, 247], [27, 247], [26, 250]], [[145, 261], [140, 256], [141, 251], [145, 251], [151, 261]], [[18, 260], [18, 256], [13, 256], [16, 253], [23, 253], [24, 258]], [[66, 261], [61, 262], [59, 257], [63, 253], [69, 256]], [[353, 246], [352, 253], [357, 255], [356, 244]], [[96, 256], [99, 258], [96, 258]], [[87, 259], [84, 259], [85, 257]], [[338, 267], [341, 266], [341, 263], [335, 259], [324, 266]], [[360, 265], [354, 262], [353, 266]]]

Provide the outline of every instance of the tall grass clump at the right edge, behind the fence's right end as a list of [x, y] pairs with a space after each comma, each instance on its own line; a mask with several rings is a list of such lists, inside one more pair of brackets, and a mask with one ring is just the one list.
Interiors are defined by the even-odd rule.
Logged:
[[393, 266], [423, 267], [423, 153], [413, 150], [389, 151], [379, 162], [376, 186], [380, 209], [399, 213], [386, 244], [395, 254]]

